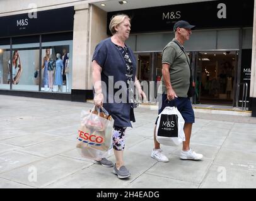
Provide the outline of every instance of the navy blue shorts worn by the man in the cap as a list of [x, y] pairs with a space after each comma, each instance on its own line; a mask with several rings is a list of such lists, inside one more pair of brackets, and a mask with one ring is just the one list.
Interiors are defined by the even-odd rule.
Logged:
[[162, 99], [159, 102], [159, 107], [161, 108], [158, 110], [158, 114], [160, 114], [163, 111], [163, 109], [165, 109], [165, 107], [176, 106], [180, 114], [182, 114], [185, 123], [195, 122], [195, 114], [190, 102], [190, 98], [177, 97], [173, 100], [167, 100], [167, 94], [163, 94], [161, 97]]

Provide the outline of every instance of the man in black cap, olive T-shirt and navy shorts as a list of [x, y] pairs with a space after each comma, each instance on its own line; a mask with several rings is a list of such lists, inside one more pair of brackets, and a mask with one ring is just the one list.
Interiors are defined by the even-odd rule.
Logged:
[[[176, 106], [185, 120], [183, 127], [185, 141], [183, 141], [183, 148], [180, 153], [182, 160], [201, 160], [203, 157], [201, 154], [192, 151], [189, 146], [192, 123], [195, 122], [195, 116], [190, 98], [187, 97], [190, 85], [190, 60], [183, 44], [185, 41], [189, 40], [192, 33], [191, 29], [194, 27], [195, 26], [190, 25], [187, 21], [177, 21], [177, 23], [174, 24], [173, 30], [175, 32], [175, 38], [163, 49], [162, 91], [158, 91], [158, 93], [162, 94], [158, 114], [167, 106]], [[158, 161], [168, 162], [168, 158], [160, 149], [160, 143], [156, 141], [155, 133], [156, 126], [154, 127], [154, 149], [151, 153], [151, 157]]]

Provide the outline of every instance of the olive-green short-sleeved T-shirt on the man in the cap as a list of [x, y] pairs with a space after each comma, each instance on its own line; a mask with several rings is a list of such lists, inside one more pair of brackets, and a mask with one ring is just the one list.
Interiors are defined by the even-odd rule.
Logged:
[[[180, 44], [180, 46], [182, 45]], [[163, 48], [162, 53], [162, 63], [167, 63], [170, 65], [170, 79], [175, 94], [178, 97], [187, 97], [187, 91], [189, 90], [190, 84], [190, 67], [189, 63], [187, 62], [189, 57], [185, 55], [180, 47], [173, 41], [170, 41], [170, 43]], [[161, 82], [162, 86], [158, 90], [158, 93], [166, 94], [167, 90], [165, 82], [163, 81], [163, 76], [161, 78]]]

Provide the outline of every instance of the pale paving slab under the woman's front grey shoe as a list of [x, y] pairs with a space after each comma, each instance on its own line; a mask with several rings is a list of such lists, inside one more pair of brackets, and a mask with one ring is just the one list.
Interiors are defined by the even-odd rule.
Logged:
[[[156, 163], [152, 158], [130, 150], [125, 151], [124, 155], [125, 166], [131, 172], [131, 177], [128, 179], [120, 180], [112, 173], [113, 168], [95, 164], [54, 183], [49, 188], [127, 188], [132, 180], [140, 177]], [[115, 162], [114, 158], [110, 156], [108, 160]]]

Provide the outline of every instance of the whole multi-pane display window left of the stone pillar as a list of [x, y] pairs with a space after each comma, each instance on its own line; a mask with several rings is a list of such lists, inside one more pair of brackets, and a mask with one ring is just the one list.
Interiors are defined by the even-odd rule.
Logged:
[[[64, 92], [72, 88], [72, 40], [0, 46], [0, 89]], [[12, 61], [10, 57], [12, 55]], [[41, 80], [39, 74], [41, 71]], [[12, 73], [11, 73], [12, 70]]]

